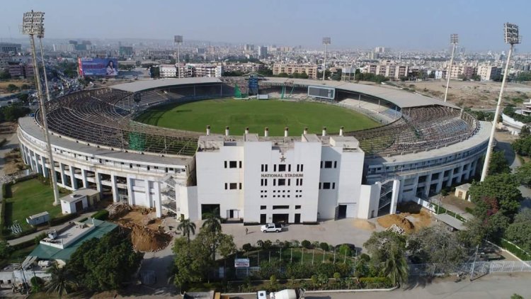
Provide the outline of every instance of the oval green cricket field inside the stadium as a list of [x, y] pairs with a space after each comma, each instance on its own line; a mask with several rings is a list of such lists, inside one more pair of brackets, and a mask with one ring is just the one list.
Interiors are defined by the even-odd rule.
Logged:
[[150, 125], [166, 128], [205, 132], [207, 125], [212, 132], [223, 134], [225, 126], [234, 135], [243, 135], [249, 127], [253, 133], [263, 135], [265, 127], [271, 136], [283, 136], [284, 128], [290, 135], [301, 135], [304, 127], [320, 134], [323, 127], [329, 133], [374, 128], [375, 120], [361, 113], [325, 103], [278, 100], [213, 99], [193, 103], [173, 104], [148, 109], [136, 119]]

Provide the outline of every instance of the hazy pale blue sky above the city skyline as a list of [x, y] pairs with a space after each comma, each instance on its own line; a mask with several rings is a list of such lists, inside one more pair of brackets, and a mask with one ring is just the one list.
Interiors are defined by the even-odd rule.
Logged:
[[[21, 38], [25, 11], [45, 11], [46, 38], [156, 38], [257, 45], [438, 50], [450, 33], [467, 50], [506, 50], [503, 23], [531, 52], [531, 0], [2, 0], [0, 38]], [[10, 30], [11, 29], [11, 30]]]

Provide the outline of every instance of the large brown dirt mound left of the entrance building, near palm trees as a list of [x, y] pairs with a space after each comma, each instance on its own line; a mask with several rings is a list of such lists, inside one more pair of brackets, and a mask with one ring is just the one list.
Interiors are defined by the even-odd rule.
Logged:
[[151, 230], [134, 223], [130, 226], [133, 247], [139, 252], [158, 252], [166, 248], [171, 241], [171, 236], [165, 232]]

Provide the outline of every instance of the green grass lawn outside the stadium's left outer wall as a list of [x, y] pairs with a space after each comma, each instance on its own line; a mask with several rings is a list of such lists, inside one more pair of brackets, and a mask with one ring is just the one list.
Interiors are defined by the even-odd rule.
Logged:
[[[54, 195], [50, 185], [42, 184], [38, 179], [21, 181], [11, 186], [11, 198], [6, 198], [6, 227], [14, 220], [18, 220], [23, 230], [28, 230], [30, 225], [25, 218], [47, 211], [50, 218], [55, 218], [61, 213], [61, 205], [53, 205]], [[61, 193], [65, 196], [67, 193]]]

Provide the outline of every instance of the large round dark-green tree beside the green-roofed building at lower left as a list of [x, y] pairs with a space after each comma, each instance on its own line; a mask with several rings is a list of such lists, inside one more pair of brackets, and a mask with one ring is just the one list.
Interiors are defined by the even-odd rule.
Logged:
[[68, 266], [76, 281], [89, 290], [115, 290], [130, 281], [144, 254], [135, 252], [127, 232], [110, 232], [76, 249]]

